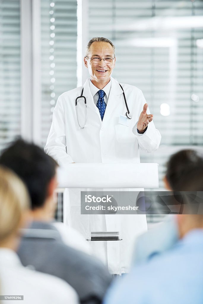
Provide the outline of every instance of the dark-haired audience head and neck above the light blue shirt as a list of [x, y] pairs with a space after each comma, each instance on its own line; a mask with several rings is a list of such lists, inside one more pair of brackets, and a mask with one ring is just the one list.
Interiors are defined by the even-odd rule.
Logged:
[[[167, 163], [164, 181], [166, 188], [172, 191], [203, 191], [203, 154], [195, 150], [173, 154]], [[179, 236], [183, 237], [190, 230], [203, 229], [203, 215], [179, 214], [177, 223]]]

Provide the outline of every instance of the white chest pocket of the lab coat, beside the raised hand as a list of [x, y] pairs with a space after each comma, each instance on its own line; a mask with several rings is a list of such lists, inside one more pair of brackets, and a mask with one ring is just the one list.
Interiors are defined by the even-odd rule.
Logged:
[[132, 133], [132, 122], [129, 126], [121, 125], [119, 117], [115, 117], [115, 133], [116, 140], [119, 143], [133, 143], [136, 141], [136, 136]]

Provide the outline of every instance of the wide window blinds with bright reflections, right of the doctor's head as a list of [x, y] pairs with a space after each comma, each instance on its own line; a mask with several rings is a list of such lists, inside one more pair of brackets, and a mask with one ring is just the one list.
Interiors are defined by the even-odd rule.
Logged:
[[161, 145], [141, 161], [159, 163], [164, 190], [168, 157], [203, 144], [203, 1], [89, 0], [88, 15], [89, 39], [115, 44], [112, 76], [140, 88], [154, 114]]

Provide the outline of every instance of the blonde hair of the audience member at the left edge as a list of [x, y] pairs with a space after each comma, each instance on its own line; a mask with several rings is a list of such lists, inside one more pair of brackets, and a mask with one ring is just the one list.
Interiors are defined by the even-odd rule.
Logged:
[[0, 166], [0, 244], [17, 232], [22, 212], [29, 208], [27, 189], [15, 173]]

